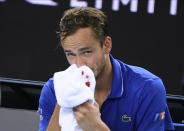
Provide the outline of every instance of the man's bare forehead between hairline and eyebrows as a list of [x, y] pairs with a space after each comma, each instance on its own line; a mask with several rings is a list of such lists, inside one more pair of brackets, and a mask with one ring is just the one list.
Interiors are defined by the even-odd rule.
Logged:
[[63, 48], [79, 48], [85, 46], [94, 46], [100, 44], [94, 37], [94, 33], [91, 28], [80, 28], [74, 34], [67, 36], [62, 42]]

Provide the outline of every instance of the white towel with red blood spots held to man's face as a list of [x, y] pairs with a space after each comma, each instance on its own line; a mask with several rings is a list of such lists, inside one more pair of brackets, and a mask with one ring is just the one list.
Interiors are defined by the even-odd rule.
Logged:
[[87, 66], [71, 65], [54, 74], [57, 103], [61, 106], [59, 124], [62, 131], [82, 131], [73, 114], [73, 107], [89, 101], [94, 104], [96, 86], [93, 71]]

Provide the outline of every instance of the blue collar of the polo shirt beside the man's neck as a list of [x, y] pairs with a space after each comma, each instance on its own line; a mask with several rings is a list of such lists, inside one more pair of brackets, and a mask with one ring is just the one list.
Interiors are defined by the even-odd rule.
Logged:
[[120, 63], [110, 55], [113, 78], [112, 78], [112, 88], [108, 95], [108, 98], [119, 98], [123, 94], [123, 75]]

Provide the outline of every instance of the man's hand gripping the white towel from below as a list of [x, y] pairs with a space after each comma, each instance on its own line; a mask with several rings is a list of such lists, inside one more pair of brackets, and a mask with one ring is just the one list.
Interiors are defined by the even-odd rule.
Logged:
[[99, 105], [85, 102], [73, 109], [75, 118], [83, 131], [110, 131], [101, 120]]

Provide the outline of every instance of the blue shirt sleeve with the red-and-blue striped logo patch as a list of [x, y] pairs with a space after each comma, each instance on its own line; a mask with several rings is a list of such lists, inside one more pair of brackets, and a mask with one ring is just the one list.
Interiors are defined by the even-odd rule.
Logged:
[[139, 97], [136, 119], [137, 131], [165, 131], [168, 130], [166, 128], [169, 128], [169, 130], [174, 129], [166, 103], [165, 88], [159, 78], [146, 82]]

